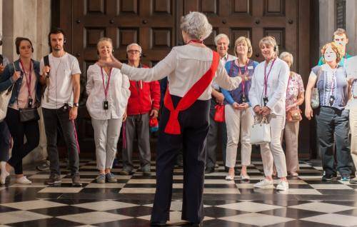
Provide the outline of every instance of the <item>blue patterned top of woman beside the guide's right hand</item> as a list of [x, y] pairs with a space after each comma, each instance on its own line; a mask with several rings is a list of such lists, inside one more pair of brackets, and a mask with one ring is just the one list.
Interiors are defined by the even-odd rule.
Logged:
[[[254, 69], [256, 69], [256, 66], [258, 65], [257, 61], [253, 61], [249, 59], [247, 70], [248, 70], [248, 75], [246, 76], [246, 81], [244, 81], [244, 96], [246, 96], [246, 102], [249, 102], [248, 99], [248, 93], [249, 89], [251, 89], [251, 77], [253, 76]], [[228, 61], [226, 63], [226, 71], [228, 73], [228, 76], [231, 77], [236, 77], [238, 76], [239, 69], [241, 69], [241, 74], [246, 74], [246, 69], [245, 67], [238, 67], [234, 61]], [[241, 84], [239, 84], [237, 89], [234, 89], [232, 91], [226, 91], [225, 89], [221, 89], [222, 94], [224, 96], [224, 104], [233, 104], [234, 102], [241, 104], [242, 97], [243, 97], [243, 81]]]

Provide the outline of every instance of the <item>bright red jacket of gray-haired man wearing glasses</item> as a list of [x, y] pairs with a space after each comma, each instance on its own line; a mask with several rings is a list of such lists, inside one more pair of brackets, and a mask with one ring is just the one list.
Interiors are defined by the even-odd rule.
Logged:
[[[149, 68], [145, 65], [139, 65], [139, 68]], [[160, 84], [159, 81], [144, 82], [130, 81], [130, 97], [126, 114], [147, 114], [152, 109], [160, 108]]]

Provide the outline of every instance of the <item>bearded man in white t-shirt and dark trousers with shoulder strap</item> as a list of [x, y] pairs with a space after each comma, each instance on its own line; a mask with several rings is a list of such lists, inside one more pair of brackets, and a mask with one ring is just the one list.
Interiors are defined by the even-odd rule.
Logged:
[[76, 57], [64, 51], [66, 39], [64, 31], [53, 29], [49, 33], [49, 45], [52, 53], [41, 59], [41, 84], [46, 84], [42, 99], [42, 113], [47, 138], [50, 171], [49, 185], [61, 183], [59, 153], [57, 150], [57, 127], [63, 131], [68, 148], [69, 168], [71, 168], [72, 185], [81, 186], [79, 177], [79, 143], [76, 139], [74, 120], [77, 117], [79, 102], [79, 79], [81, 69]]

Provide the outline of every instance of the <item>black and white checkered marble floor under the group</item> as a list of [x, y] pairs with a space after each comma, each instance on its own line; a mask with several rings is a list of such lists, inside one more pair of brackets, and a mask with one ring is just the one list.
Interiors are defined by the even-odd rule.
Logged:
[[[133, 176], [117, 175], [118, 183], [105, 184], [94, 183], [95, 161], [82, 160], [80, 165], [82, 187], [71, 186], [66, 163], [61, 163], [60, 187], [44, 185], [49, 172], [34, 168], [25, 171], [33, 181], [29, 186], [16, 184], [13, 176], [0, 187], [0, 226], [149, 226], [154, 163], [153, 176], [136, 171]], [[320, 166], [308, 162], [300, 166], [299, 176], [288, 178], [290, 189], [281, 192], [253, 188], [263, 179], [260, 161], [248, 166], [250, 181], [225, 181], [220, 165], [205, 177], [203, 226], [357, 226], [357, 186], [323, 183]], [[171, 226], [185, 225], [181, 221], [182, 173], [175, 168]]]

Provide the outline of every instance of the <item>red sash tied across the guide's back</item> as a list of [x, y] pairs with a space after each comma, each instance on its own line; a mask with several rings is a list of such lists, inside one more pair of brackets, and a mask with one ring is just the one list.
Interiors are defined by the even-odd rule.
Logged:
[[169, 86], [167, 86], [166, 94], [164, 98], [164, 105], [170, 111], [169, 121], [165, 127], [165, 133], [179, 135], [181, 134], [181, 126], [178, 122], [178, 114], [180, 111], [184, 111], [188, 109], [188, 107], [192, 106], [194, 102], [198, 99], [203, 91], [206, 91], [207, 87], [211, 84], [213, 76], [216, 74], [216, 69], [218, 68], [219, 64], [219, 54], [216, 51], [212, 51], [213, 59], [211, 68], [206, 71], [201, 79], [199, 79], [196, 84], [193, 84], [191, 89], [187, 91], [185, 96], [182, 97], [174, 109], [174, 104], [172, 103], [171, 95], [169, 92]]

